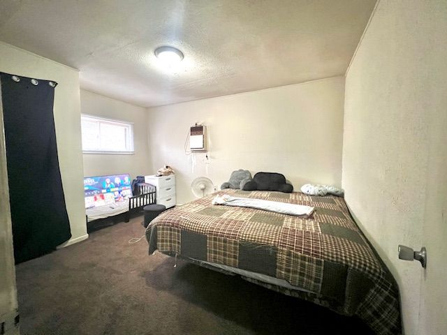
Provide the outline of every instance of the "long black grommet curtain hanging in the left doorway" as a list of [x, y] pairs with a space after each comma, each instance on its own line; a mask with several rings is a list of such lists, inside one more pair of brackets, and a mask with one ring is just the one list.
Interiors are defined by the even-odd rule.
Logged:
[[54, 130], [55, 82], [0, 73], [15, 262], [71, 237]]

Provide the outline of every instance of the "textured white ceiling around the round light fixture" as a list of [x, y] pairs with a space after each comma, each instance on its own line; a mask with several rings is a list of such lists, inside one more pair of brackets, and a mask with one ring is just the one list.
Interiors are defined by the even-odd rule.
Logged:
[[[150, 107], [341, 75], [375, 2], [1, 0], [0, 40]], [[177, 68], [160, 66], [161, 45], [182, 50]]]

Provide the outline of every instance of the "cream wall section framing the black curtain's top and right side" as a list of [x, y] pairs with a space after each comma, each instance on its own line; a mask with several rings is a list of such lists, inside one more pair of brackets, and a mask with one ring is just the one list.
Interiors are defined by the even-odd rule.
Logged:
[[6, 43], [0, 43], [0, 71], [59, 83], [54, 95], [54, 125], [66, 209], [73, 235], [68, 243], [87, 238], [78, 71]]

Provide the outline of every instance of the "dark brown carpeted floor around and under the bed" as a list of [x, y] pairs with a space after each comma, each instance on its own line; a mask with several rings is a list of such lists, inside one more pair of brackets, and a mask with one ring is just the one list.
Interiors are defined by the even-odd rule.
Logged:
[[371, 334], [362, 322], [160, 253], [142, 217], [17, 265], [21, 334]]

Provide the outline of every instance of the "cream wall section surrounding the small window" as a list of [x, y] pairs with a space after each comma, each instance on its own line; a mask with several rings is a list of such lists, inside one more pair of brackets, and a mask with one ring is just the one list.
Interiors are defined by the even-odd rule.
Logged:
[[133, 122], [133, 155], [84, 154], [85, 177], [130, 173], [132, 178], [149, 174], [147, 110], [81, 89], [81, 113]]

